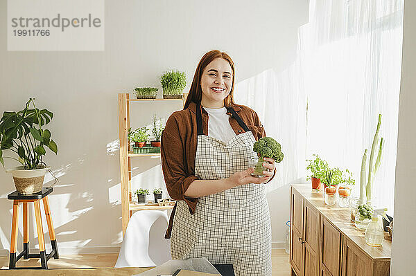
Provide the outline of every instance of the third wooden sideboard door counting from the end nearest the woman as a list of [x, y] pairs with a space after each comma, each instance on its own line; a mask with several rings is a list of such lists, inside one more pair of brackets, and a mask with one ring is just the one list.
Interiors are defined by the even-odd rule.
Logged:
[[[321, 220], [322, 275], [327, 275], [325, 273], [329, 272], [332, 276], [339, 276], [342, 245], [341, 233], [324, 217], [321, 217]], [[325, 273], [324, 268], [328, 270]]]

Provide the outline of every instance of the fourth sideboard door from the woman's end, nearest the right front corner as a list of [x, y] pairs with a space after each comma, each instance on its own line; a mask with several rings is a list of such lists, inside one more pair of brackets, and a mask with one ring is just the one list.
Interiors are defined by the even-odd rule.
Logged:
[[343, 276], [370, 276], [371, 259], [352, 241], [344, 239]]

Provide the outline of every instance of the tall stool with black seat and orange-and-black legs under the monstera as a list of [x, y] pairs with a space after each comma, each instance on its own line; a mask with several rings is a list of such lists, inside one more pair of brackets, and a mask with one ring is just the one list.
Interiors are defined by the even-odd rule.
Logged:
[[[51, 219], [51, 210], [49, 208], [48, 194], [53, 191], [52, 187], [44, 187], [41, 192], [35, 194], [19, 194], [17, 191], [12, 192], [7, 196], [7, 199], [13, 201], [13, 219], [12, 219], [12, 238], [10, 241], [10, 259], [9, 269], [18, 269], [16, 262], [21, 257], [23, 259], [40, 258], [42, 266], [35, 268], [48, 269], [48, 260], [59, 259], [58, 246], [56, 244], [55, 230], [53, 230], [53, 224]], [[46, 255], [45, 241], [42, 227], [42, 217], [40, 214], [40, 200], [43, 200], [44, 210], [46, 214], [46, 221], [49, 228], [49, 237], [51, 238], [52, 251]], [[36, 217], [36, 228], [37, 228], [37, 239], [39, 241], [39, 254], [29, 253], [29, 230], [28, 230], [28, 202], [33, 202], [35, 206], [35, 217]], [[16, 257], [17, 251], [17, 230], [19, 226], [19, 203], [23, 203], [23, 251]], [[28, 267], [19, 267], [27, 269]]]

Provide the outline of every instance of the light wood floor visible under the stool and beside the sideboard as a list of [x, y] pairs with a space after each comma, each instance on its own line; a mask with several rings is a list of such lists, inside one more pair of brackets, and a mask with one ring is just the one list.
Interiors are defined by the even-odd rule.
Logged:
[[[49, 259], [49, 268], [111, 268], [116, 264], [116, 253], [62, 255], [59, 259]], [[0, 257], [0, 268], [8, 268], [8, 257]], [[40, 266], [39, 259], [20, 259], [17, 266]], [[289, 276], [291, 267], [289, 255], [283, 249], [272, 249], [272, 275]]]

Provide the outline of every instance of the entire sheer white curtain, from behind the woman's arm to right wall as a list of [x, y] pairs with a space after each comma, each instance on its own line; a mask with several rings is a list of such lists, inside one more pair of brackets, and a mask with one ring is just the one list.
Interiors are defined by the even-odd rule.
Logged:
[[403, 5], [403, 0], [311, 0], [296, 61], [285, 71], [270, 69], [237, 84], [236, 102], [259, 113], [285, 154], [269, 190], [305, 176], [305, 157], [312, 154], [352, 171], [359, 188], [361, 158], [371, 150], [381, 113], [385, 145], [374, 203], [392, 214]]

